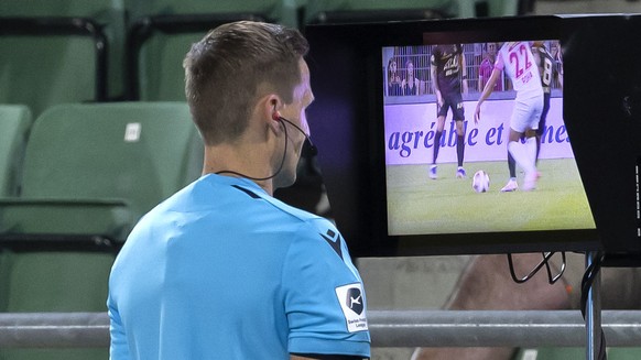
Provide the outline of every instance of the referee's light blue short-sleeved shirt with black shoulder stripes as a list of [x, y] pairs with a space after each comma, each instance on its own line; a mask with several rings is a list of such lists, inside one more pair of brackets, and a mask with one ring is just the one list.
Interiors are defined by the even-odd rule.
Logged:
[[338, 230], [247, 179], [205, 175], [151, 210], [109, 287], [112, 360], [370, 356]]

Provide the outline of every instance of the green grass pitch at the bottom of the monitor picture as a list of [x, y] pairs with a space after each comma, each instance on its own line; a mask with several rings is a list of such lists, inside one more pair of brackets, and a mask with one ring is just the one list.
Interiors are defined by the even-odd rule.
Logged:
[[[573, 159], [541, 160], [536, 189], [500, 193], [509, 173], [506, 161], [465, 164], [467, 178], [455, 177], [456, 164], [388, 165], [391, 234], [591, 229], [595, 222]], [[478, 170], [490, 176], [490, 189], [476, 193]], [[518, 172], [519, 186], [523, 174]]]

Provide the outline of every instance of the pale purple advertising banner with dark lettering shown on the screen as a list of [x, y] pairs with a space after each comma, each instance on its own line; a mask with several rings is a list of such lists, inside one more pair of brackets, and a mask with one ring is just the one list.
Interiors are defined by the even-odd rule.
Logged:
[[[476, 101], [465, 101], [465, 161], [502, 161], [507, 159], [507, 139], [513, 100], [487, 100], [480, 121], [474, 123]], [[550, 100], [550, 112], [541, 140], [540, 159], [574, 159], [563, 121], [563, 99]], [[438, 160], [456, 162], [456, 131], [452, 114], [445, 121]], [[428, 164], [432, 161], [436, 131], [436, 103], [384, 106], [385, 163]]]

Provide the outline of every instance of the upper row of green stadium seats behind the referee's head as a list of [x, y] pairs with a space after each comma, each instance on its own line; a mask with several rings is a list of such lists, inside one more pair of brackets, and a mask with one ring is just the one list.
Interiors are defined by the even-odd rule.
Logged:
[[63, 102], [182, 101], [182, 59], [191, 44], [233, 20], [304, 30], [319, 22], [503, 15], [519, 9], [506, 0], [2, 0], [0, 103], [25, 103], [37, 116]]

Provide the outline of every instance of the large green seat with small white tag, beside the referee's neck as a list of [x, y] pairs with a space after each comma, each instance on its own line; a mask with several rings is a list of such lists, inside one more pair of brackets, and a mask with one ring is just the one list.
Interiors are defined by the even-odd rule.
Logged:
[[33, 124], [21, 197], [0, 200], [0, 238], [121, 242], [140, 216], [199, 176], [202, 156], [184, 102], [56, 106]]

